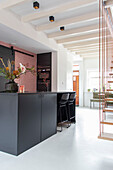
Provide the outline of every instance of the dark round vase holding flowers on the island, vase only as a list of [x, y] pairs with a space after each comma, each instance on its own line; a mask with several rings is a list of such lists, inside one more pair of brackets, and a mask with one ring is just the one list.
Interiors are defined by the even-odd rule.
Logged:
[[15, 83], [14, 80], [10, 80], [5, 84], [5, 90], [9, 93], [16, 93], [18, 92], [18, 84]]

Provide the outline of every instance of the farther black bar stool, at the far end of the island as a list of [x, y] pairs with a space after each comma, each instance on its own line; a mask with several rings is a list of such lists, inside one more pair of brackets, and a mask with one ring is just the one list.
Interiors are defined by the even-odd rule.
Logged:
[[[68, 100], [68, 120], [69, 120], [69, 122], [71, 122], [71, 120], [73, 118], [75, 118], [75, 115], [72, 114], [72, 112], [74, 112], [75, 99], [76, 99], [76, 94], [75, 93], [70, 94], [70, 97]], [[71, 108], [72, 108], [72, 112], [71, 112]]]

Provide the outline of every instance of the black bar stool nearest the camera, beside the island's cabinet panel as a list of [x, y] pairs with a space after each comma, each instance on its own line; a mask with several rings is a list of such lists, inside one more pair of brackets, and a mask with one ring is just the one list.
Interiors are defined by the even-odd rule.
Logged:
[[[58, 116], [59, 116], [59, 123], [61, 125], [61, 130], [60, 132], [62, 132], [62, 125], [64, 123], [67, 123], [69, 127], [69, 122], [68, 122], [68, 112], [67, 112], [67, 103], [68, 103], [68, 99], [69, 99], [69, 94], [63, 94], [61, 97], [61, 100], [59, 102], [59, 110], [58, 110]], [[58, 130], [59, 131], [59, 130]]]

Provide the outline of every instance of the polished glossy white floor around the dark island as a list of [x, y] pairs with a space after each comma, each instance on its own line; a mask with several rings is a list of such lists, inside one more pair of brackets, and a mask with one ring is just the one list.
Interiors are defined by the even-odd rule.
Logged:
[[113, 170], [113, 142], [99, 140], [98, 110], [77, 108], [77, 123], [18, 157], [0, 152], [0, 170]]

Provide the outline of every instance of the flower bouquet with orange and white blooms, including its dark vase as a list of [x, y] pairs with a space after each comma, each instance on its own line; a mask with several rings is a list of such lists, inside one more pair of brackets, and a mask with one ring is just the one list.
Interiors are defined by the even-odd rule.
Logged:
[[20, 63], [20, 66], [17, 68], [17, 70], [15, 70], [14, 61], [10, 61], [8, 59], [7, 66], [5, 65], [2, 57], [0, 57], [0, 61], [3, 64], [3, 68], [0, 68], [0, 76], [9, 80], [9, 82], [5, 84], [5, 90], [7, 92], [18, 92], [18, 84], [15, 82], [15, 79], [19, 79], [21, 75], [26, 74], [27, 72], [31, 72], [32, 74], [35, 73], [34, 66], [27, 68]]

